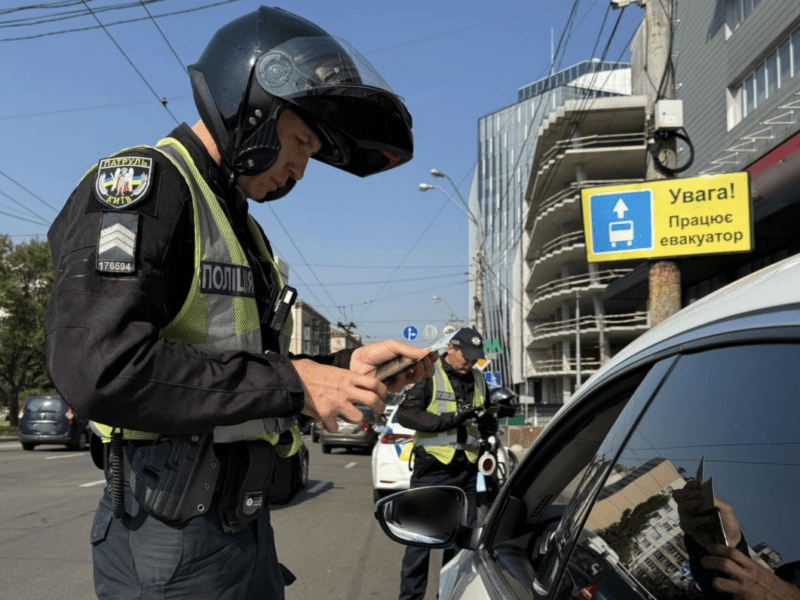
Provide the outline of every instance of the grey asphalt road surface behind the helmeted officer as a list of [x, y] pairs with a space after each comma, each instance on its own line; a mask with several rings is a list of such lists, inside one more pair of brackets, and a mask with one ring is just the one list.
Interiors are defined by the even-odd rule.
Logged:
[[[278, 556], [296, 576], [287, 600], [397, 598], [405, 547], [375, 520], [370, 455], [310, 454], [308, 488], [272, 507]], [[89, 529], [104, 485], [88, 452], [0, 443], [0, 589], [14, 600], [95, 598]], [[434, 551], [427, 598], [436, 597]]]

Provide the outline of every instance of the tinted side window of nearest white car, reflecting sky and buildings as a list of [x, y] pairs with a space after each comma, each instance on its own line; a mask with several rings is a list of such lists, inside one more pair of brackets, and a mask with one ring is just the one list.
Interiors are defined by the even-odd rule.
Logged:
[[[800, 584], [798, 364], [790, 344], [682, 356], [615, 458], [556, 598], [710, 597], [700, 560], [720, 531], [742, 536], [743, 564], [776, 589]], [[710, 505], [704, 530], [676, 502], [697, 475], [727, 503]]]

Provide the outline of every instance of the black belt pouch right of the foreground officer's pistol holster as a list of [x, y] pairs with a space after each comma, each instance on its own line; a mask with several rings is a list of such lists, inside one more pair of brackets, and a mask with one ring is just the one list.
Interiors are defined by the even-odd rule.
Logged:
[[258, 518], [269, 500], [269, 488], [278, 455], [272, 444], [235, 442], [225, 444], [225, 481], [217, 504], [217, 516], [226, 533], [236, 533]]

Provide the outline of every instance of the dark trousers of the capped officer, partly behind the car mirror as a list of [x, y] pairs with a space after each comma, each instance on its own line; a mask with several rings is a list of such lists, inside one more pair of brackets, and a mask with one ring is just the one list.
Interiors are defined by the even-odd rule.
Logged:
[[[414, 472], [411, 474], [410, 487], [428, 487], [432, 485], [452, 485], [464, 490], [467, 494], [467, 526], [475, 527], [477, 514], [477, 477], [478, 467], [469, 462], [462, 450], [456, 451], [453, 461], [445, 465], [430, 455], [414, 459]], [[448, 548], [444, 551], [442, 565], [449, 562], [458, 549]], [[400, 600], [422, 600], [425, 588], [428, 587], [428, 569], [430, 568], [430, 550], [419, 546], [407, 546], [403, 556], [403, 568], [400, 574]]]

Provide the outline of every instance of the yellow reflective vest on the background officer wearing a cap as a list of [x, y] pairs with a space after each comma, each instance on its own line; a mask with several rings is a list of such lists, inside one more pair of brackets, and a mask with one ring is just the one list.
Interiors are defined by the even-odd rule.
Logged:
[[[486, 386], [480, 371], [472, 369], [472, 376], [475, 378], [475, 389], [472, 393], [472, 406], [475, 408], [483, 407], [486, 401]], [[446, 412], [454, 413], [458, 410], [456, 395], [453, 392], [453, 385], [444, 372], [442, 359], [436, 361], [436, 368], [433, 374], [433, 397], [428, 404], [428, 412], [441, 415]], [[414, 445], [423, 446], [425, 450], [436, 458], [439, 462], [449, 465], [456, 455], [456, 450], [462, 449], [470, 462], [478, 460], [478, 428], [468, 425], [467, 440], [463, 443], [458, 442], [458, 428], [442, 432], [417, 431], [414, 434]]]

